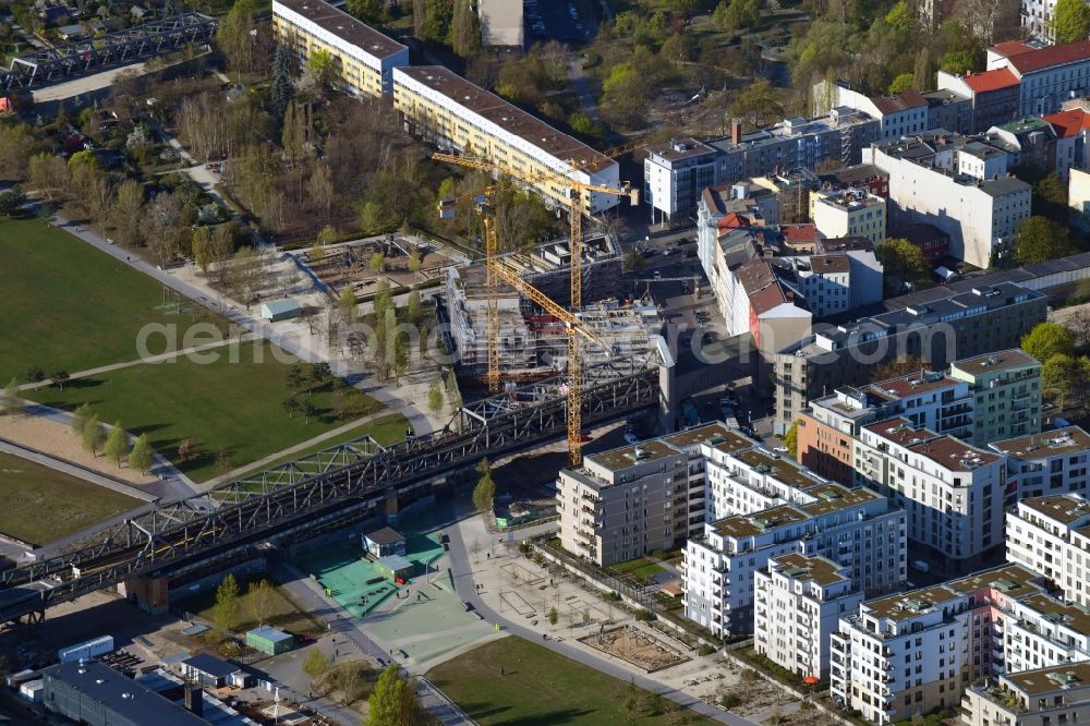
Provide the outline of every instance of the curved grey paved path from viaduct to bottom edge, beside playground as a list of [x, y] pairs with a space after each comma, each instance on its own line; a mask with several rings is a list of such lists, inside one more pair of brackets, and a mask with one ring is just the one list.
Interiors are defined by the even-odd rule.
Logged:
[[[453, 574], [455, 589], [458, 595], [465, 602], [473, 605], [486, 620], [489, 622], [500, 622], [507, 629], [508, 632], [516, 636], [521, 636], [528, 640], [532, 640], [544, 648], [555, 651], [561, 655], [565, 655], [573, 661], [578, 661], [583, 665], [590, 666], [595, 670], [601, 670], [607, 675], [610, 675], [620, 680], [633, 680], [640, 688], [646, 689], [649, 691], [657, 691], [663, 694], [664, 698], [670, 699], [675, 703], [683, 705], [686, 707], [692, 709], [697, 713], [700, 713], [714, 721], [730, 724], [731, 726], [755, 726], [753, 722], [747, 721], [741, 716], [736, 716], [731, 713], [726, 713], [719, 711], [718, 709], [704, 703], [703, 701], [695, 699], [688, 693], [671, 689], [664, 683], [655, 680], [649, 676], [634, 675], [632, 670], [622, 667], [616, 663], [611, 663], [604, 658], [591, 655], [586, 651], [578, 649], [573, 645], [569, 645], [565, 642], [557, 642], [555, 639], [549, 639], [543, 641], [541, 633], [536, 630], [525, 627], [520, 621], [509, 620], [502, 615], [493, 610], [476, 592], [476, 582], [474, 582], [474, 572], [471, 564], [470, 555], [467, 549], [465, 542], [463, 537], [465, 532], [470, 529], [467, 524], [471, 518], [472, 507], [465, 501], [465, 497], [453, 497], [450, 506], [455, 508], [455, 513], [462, 517], [458, 524], [455, 527], [447, 528], [444, 530], [450, 536], [450, 569]], [[475, 536], [472, 535], [471, 536]], [[518, 539], [524, 536], [523, 533], [517, 534]]]

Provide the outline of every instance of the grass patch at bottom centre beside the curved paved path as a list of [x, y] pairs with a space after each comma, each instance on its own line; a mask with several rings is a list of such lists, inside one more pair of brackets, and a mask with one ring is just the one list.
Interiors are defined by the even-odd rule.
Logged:
[[713, 723], [665, 699], [653, 705], [651, 693], [516, 637], [447, 661], [427, 678], [485, 725]]

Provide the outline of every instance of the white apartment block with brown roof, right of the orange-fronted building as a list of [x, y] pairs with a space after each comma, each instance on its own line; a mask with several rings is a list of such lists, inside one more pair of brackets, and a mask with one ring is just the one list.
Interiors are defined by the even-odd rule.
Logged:
[[1000, 455], [904, 418], [863, 426], [853, 446], [856, 483], [904, 507], [908, 536], [952, 571], [977, 566], [1003, 543], [1006, 462]]

